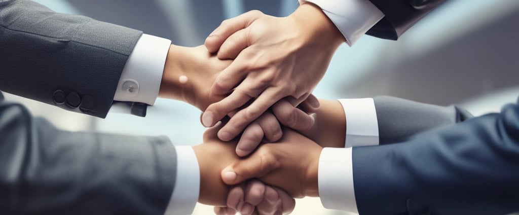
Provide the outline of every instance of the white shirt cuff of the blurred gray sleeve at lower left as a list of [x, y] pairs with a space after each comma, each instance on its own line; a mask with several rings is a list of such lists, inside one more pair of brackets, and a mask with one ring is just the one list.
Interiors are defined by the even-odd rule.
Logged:
[[176, 146], [176, 180], [166, 215], [192, 214], [200, 192], [200, 168], [191, 146]]

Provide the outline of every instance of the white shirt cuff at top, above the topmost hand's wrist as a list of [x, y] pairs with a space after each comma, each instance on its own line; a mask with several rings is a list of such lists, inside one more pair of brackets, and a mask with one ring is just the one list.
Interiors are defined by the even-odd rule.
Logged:
[[349, 46], [384, 18], [383, 12], [368, 0], [299, 0], [299, 4], [305, 2], [319, 6]]

